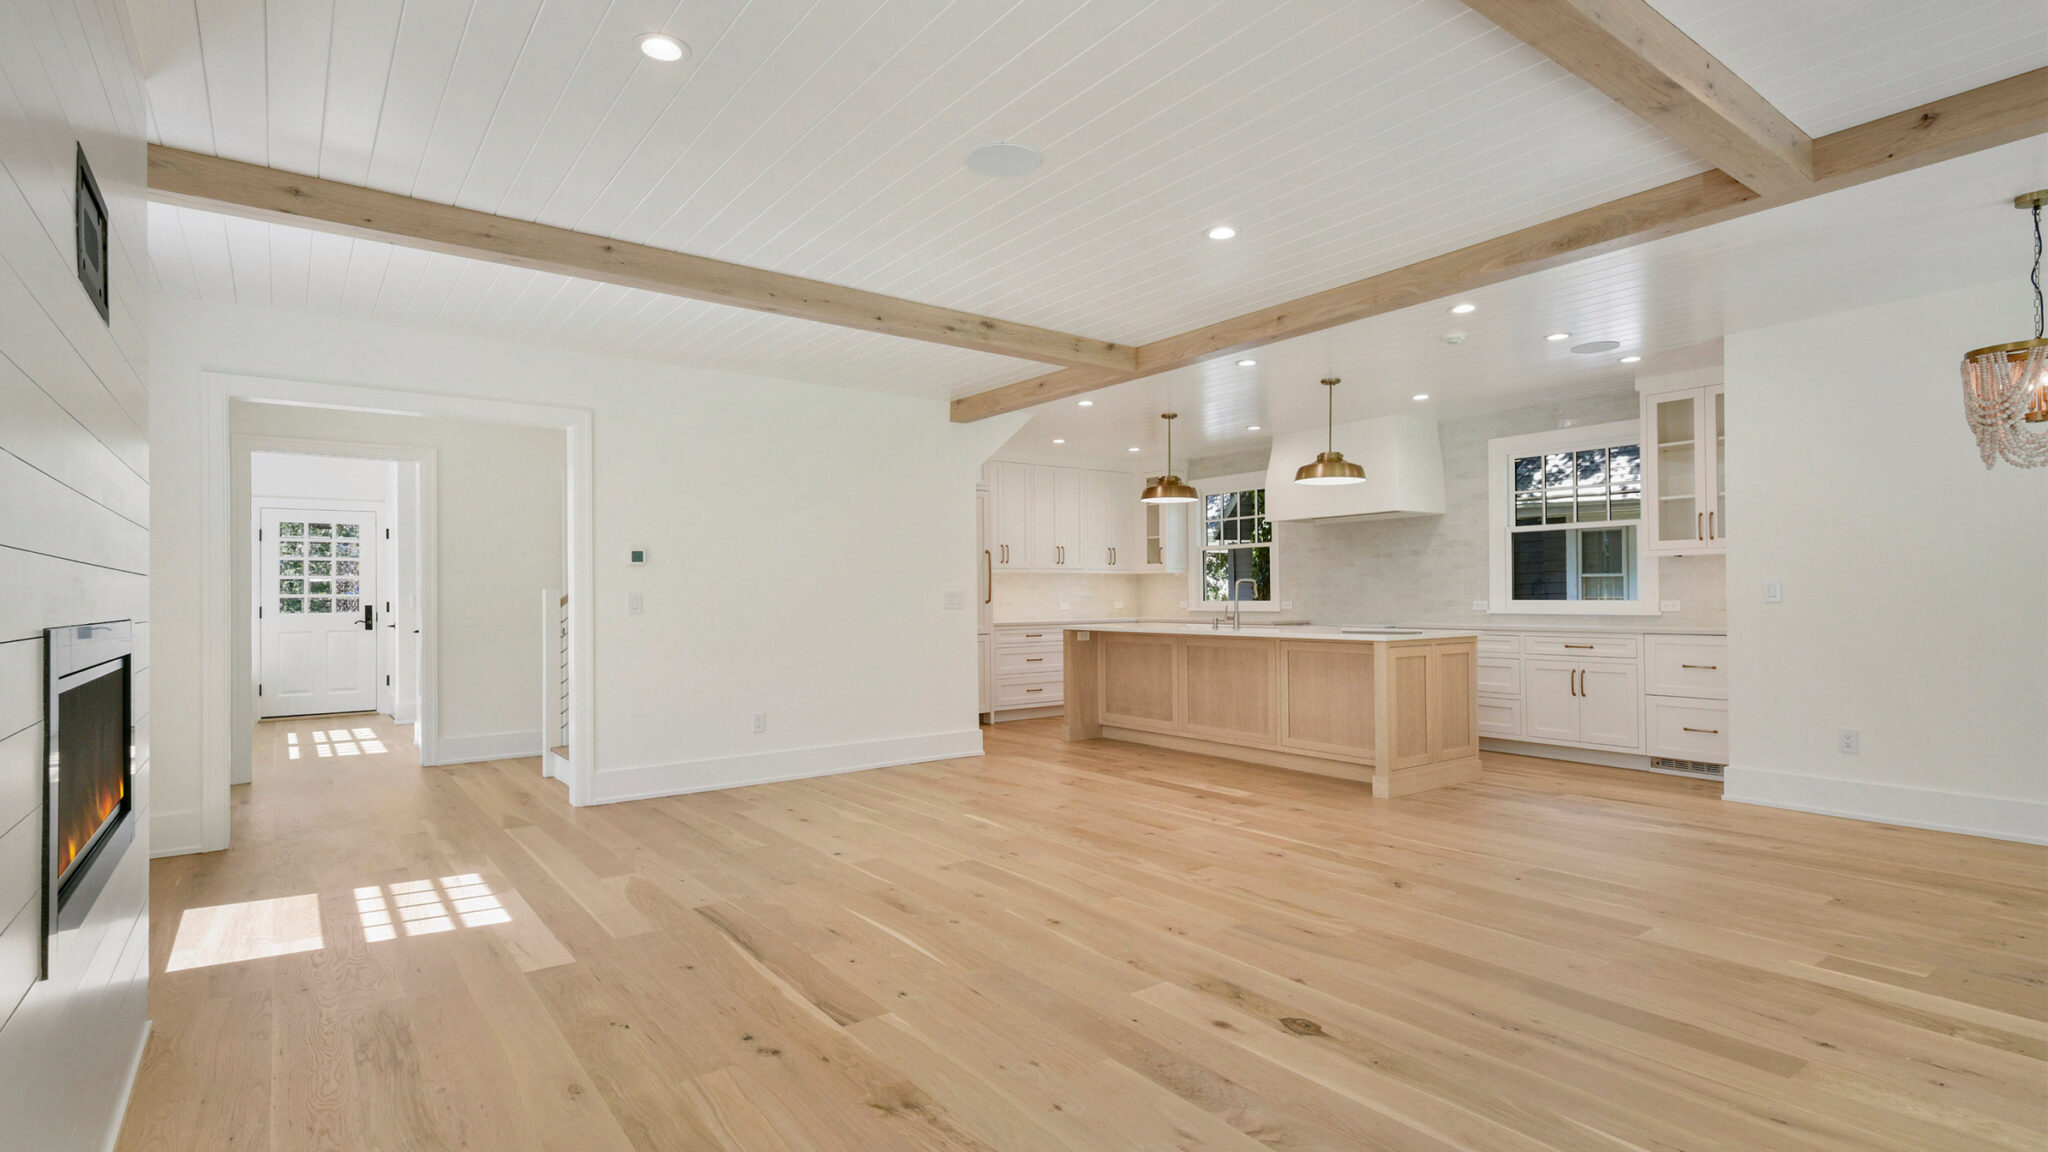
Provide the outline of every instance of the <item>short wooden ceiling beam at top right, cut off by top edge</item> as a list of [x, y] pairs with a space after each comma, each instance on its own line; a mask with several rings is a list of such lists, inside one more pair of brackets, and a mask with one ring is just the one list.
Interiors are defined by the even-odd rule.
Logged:
[[1812, 182], [1812, 139], [1649, 0], [1464, 0], [1751, 191]]

